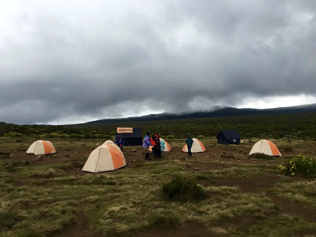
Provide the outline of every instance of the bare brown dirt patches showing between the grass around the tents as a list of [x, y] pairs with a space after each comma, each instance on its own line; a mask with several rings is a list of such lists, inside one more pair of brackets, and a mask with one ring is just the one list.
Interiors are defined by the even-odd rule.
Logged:
[[[6, 141], [4, 141], [5, 143]], [[203, 141], [202, 141], [203, 142]], [[29, 140], [23, 140], [23, 146], [18, 147], [18, 145], [14, 144], [14, 147], [10, 150], [10, 155], [8, 157], [2, 157], [3, 161], [15, 160], [15, 161], [29, 161], [33, 166], [45, 166], [45, 165], [56, 165], [63, 164], [68, 162], [76, 162], [78, 164], [76, 167], [70, 167], [67, 172], [69, 173], [78, 173], [80, 174], [80, 169], [83, 167], [84, 162], [82, 162], [82, 158], [88, 158], [90, 152], [96, 148], [97, 146], [94, 144], [95, 141], [91, 141], [89, 145], [85, 144], [85, 141], [76, 142], [74, 144], [67, 145], [64, 143], [58, 148], [58, 144], [55, 145], [57, 149], [57, 153], [54, 155], [43, 156], [43, 161], [37, 161], [36, 156], [27, 155], [25, 153], [27, 145], [30, 143]], [[53, 142], [54, 143], [54, 142]], [[205, 144], [206, 143], [206, 144]], [[280, 175], [276, 169], [269, 170], [271, 165], [276, 166], [277, 164], [282, 163], [286, 156], [294, 156], [298, 154], [307, 155], [309, 157], [316, 154], [316, 142], [308, 143], [308, 145], [304, 146], [304, 143], [280, 143], [279, 150], [281, 151], [283, 157], [275, 158], [273, 160], [261, 160], [261, 159], [252, 159], [248, 158], [247, 155], [251, 150], [253, 144], [243, 143], [239, 146], [231, 145], [231, 146], [217, 146], [214, 145], [214, 141], [206, 141], [204, 145], [206, 146], [207, 151], [204, 153], [193, 153], [192, 157], [187, 157], [185, 153], [181, 151], [183, 144], [178, 141], [170, 142], [172, 147], [171, 152], [164, 153], [165, 159], [162, 160], [153, 160], [153, 161], [145, 161], [143, 149], [138, 147], [125, 147], [124, 154], [127, 162], [127, 169], [129, 168], [139, 168], [142, 167], [145, 163], [150, 162], [166, 162], [166, 161], [181, 161], [190, 163], [190, 166], [186, 167], [186, 171], [194, 171], [196, 173], [202, 173], [212, 170], [223, 170], [227, 168], [233, 167], [246, 167], [249, 170], [258, 170], [258, 172], [262, 172], [263, 175], [253, 177], [221, 177], [220, 175], [215, 175], [207, 180], [198, 180], [198, 183], [207, 187], [207, 186], [231, 186], [231, 187], [239, 187], [244, 193], [261, 193], [265, 192], [266, 196], [273, 200], [273, 202], [278, 206], [281, 210], [280, 215], [284, 216], [301, 216], [302, 218], [308, 220], [309, 222], [316, 222], [316, 212], [313, 208], [308, 206], [304, 206], [299, 203], [293, 203], [288, 200], [285, 200], [280, 197], [273, 196], [269, 189], [272, 188], [275, 183], [290, 180], [290, 181], [298, 181], [298, 180], [315, 180], [314, 178], [300, 178], [300, 177], [285, 177]], [[8, 143], [9, 144], [9, 143]], [[8, 150], [9, 145], [5, 147]], [[30, 143], [31, 144], [31, 143]], [[17, 148], [18, 147], [18, 148]], [[293, 151], [284, 150], [285, 147], [293, 148]], [[1, 146], [0, 146], [1, 148]], [[20, 149], [20, 150], [19, 150]], [[132, 149], [137, 149], [136, 152], [132, 152]], [[242, 151], [240, 151], [242, 150]], [[230, 154], [232, 158], [222, 157], [222, 155]], [[262, 167], [262, 168], [261, 168]], [[268, 170], [267, 170], [268, 169]], [[204, 173], [203, 173], [204, 174]], [[81, 175], [86, 175], [81, 173]], [[27, 181], [15, 182], [16, 186], [26, 185]], [[238, 220], [243, 224], [252, 225], [255, 221], [245, 217], [240, 218]], [[298, 236], [304, 236], [304, 234], [315, 234], [313, 233], [300, 233]], [[216, 234], [216, 235], [215, 235]], [[100, 234], [96, 234], [94, 231], [89, 228], [88, 219], [85, 217], [85, 212], [83, 209], [80, 209], [76, 216], [76, 223], [70, 227], [64, 229], [62, 236], [71, 236], [71, 237], [92, 237], [92, 236], [102, 236]], [[164, 236], [164, 237], [192, 237], [192, 236], [229, 236], [226, 234], [225, 230], [222, 228], [213, 228], [213, 232], [206, 232], [204, 228], [189, 226], [186, 228], [172, 228], [167, 230], [147, 230], [142, 233], [137, 233], [136, 236]]]

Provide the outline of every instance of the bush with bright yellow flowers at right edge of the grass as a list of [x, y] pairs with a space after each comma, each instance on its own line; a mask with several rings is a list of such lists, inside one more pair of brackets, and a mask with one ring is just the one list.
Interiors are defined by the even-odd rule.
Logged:
[[315, 174], [316, 173], [316, 160], [313, 158], [306, 158], [304, 155], [298, 155], [292, 158], [284, 165], [278, 165], [280, 173], [284, 175], [300, 174]]

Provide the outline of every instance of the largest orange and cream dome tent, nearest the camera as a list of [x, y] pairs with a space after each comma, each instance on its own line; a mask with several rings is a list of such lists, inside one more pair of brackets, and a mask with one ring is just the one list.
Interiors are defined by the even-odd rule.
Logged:
[[116, 170], [125, 166], [126, 160], [119, 147], [101, 145], [90, 153], [82, 171], [97, 173]]

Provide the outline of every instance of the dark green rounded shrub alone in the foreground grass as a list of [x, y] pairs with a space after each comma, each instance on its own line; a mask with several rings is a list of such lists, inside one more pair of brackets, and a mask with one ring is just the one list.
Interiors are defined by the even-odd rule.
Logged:
[[198, 201], [206, 197], [206, 192], [196, 181], [179, 175], [163, 184], [161, 192], [165, 198], [176, 201]]

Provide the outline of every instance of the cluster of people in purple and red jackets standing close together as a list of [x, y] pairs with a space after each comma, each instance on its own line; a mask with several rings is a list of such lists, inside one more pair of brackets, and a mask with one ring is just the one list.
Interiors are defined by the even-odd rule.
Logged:
[[149, 147], [152, 146], [151, 151], [153, 153], [153, 156], [156, 159], [161, 159], [161, 147], [162, 147], [162, 141], [160, 141], [160, 134], [156, 133], [153, 136], [149, 136], [150, 133], [146, 132], [146, 135], [144, 137], [144, 143], [143, 148], [145, 149], [145, 160], [151, 160], [149, 156]]

